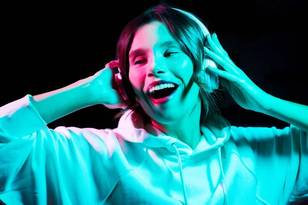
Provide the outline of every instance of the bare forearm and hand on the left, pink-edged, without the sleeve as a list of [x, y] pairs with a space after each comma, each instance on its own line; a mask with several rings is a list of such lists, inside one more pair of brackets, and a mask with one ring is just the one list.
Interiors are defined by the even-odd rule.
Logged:
[[122, 97], [115, 83], [115, 74], [111, 68], [117, 66], [118, 61], [113, 60], [90, 77], [64, 88], [36, 95], [30, 101], [47, 124], [96, 104], [103, 104], [109, 109], [125, 109], [130, 100]]

